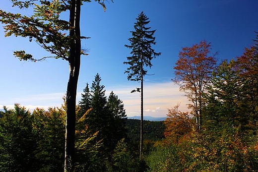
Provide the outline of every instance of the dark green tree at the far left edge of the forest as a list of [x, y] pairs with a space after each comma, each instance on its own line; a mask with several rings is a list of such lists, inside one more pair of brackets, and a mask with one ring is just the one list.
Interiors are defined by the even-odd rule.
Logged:
[[34, 171], [35, 145], [30, 113], [18, 104], [13, 110], [4, 107], [0, 118], [0, 171]]

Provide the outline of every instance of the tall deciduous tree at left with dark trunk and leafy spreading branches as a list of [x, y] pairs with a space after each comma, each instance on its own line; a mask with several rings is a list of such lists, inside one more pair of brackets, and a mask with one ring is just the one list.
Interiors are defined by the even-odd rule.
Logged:
[[[80, 7], [82, 2], [91, 0], [11, 0], [14, 6], [28, 8], [34, 6], [31, 16], [14, 14], [0, 10], [0, 22], [3, 23], [5, 36], [15, 35], [33, 39], [55, 58], [65, 59], [69, 63], [69, 79], [66, 90], [66, 130], [65, 130], [65, 171], [73, 170], [76, 90], [80, 69], [81, 50]], [[104, 9], [104, 0], [94, 0]], [[112, 0], [111, 0], [112, 1]], [[60, 18], [68, 12], [69, 19]], [[43, 60], [27, 54], [24, 50], [15, 51], [20, 60]]]

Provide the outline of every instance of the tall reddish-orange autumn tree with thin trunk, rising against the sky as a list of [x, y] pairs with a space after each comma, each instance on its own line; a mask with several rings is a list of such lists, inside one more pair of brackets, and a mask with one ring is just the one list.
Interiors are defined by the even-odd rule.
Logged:
[[201, 41], [192, 47], [185, 47], [179, 52], [176, 62], [174, 82], [180, 85], [180, 91], [186, 93], [189, 105], [194, 111], [198, 129], [202, 125], [203, 93], [210, 82], [212, 70], [216, 64], [215, 55], [209, 56], [211, 44]]

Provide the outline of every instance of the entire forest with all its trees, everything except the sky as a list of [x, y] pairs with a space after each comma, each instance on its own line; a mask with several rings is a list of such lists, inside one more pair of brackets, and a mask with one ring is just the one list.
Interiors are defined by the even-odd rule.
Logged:
[[[12, 0], [20, 8], [34, 1]], [[95, 1], [106, 8], [102, 0]], [[258, 171], [258, 35], [253, 46], [231, 60], [217, 61], [206, 41], [182, 48], [172, 80], [187, 96], [189, 111], [181, 112], [178, 104], [168, 110], [165, 121], [127, 119], [123, 101], [113, 91], [106, 96], [98, 73], [91, 85], [86, 83], [75, 105], [80, 55], [86, 54], [80, 50], [80, 39], [87, 39], [80, 36], [79, 10], [82, 2], [90, 0], [68, 2], [40, 0], [42, 6], [37, 6], [32, 17], [0, 10], [6, 36], [35, 38], [70, 66], [62, 107], [30, 112], [15, 104], [14, 109], [4, 107], [0, 112], [1, 172]], [[59, 18], [66, 10], [69, 22]], [[148, 18], [140, 15], [144, 20], [136, 23], [148, 24]], [[145, 27], [144, 34], [138, 35], [139, 29], [131, 32], [133, 44], [128, 46], [134, 51], [129, 69], [136, 73], [133, 80], [141, 83], [147, 73], [143, 61], [150, 67], [152, 55], [160, 54], [147, 44], [148, 38], [155, 44], [155, 30], [149, 28]], [[138, 42], [142, 35], [144, 46]], [[21, 60], [42, 60], [24, 51], [14, 55]], [[135, 73], [129, 74], [129, 80]], [[143, 84], [133, 91], [142, 94], [142, 88]], [[141, 117], [142, 112], [141, 106]]]

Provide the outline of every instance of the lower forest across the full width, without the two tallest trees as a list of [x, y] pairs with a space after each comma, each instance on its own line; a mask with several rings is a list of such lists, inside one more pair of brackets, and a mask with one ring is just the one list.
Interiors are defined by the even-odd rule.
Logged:
[[[204, 57], [200, 60], [200, 55], [190, 53], [202, 54], [209, 45], [200, 42], [188, 48], [192, 66], [207, 64]], [[179, 58], [176, 72], [189, 69], [180, 68], [184, 57]], [[197, 67], [189, 78], [198, 79], [203, 69]], [[214, 63], [208, 71], [204, 89], [198, 90], [201, 93], [188, 83], [189, 78], [182, 79], [187, 84], [181, 89], [192, 111], [181, 112], [176, 105], [168, 110], [165, 121], [144, 121], [141, 159], [140, 120], [127, 119], [123, 101], [113, 91], [106, 97], [105, 86], [96, 74], [91, 87], [86, 83], [76, 107], [75, 171], [257, 171], [257, 45], [246, 48], [240, 57]], [[196, 99], [194, 93], [198, 93]], [[14, 109], [4, 108], [0, 116], [0, 171], [64, 170], [65, 105], [29, 112], [15, 104]]]

